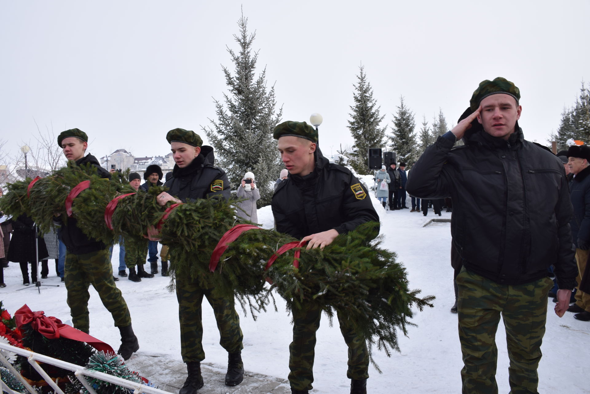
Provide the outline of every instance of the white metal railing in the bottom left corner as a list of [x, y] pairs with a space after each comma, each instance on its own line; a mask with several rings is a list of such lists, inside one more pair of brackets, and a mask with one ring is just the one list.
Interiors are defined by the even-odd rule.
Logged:
[[[88, 369], [86, 369], [82, 366], [76, 365], [76, 364], [67, 363], [67, 362], [64, 362], [61, 360], [53, 359], [52, 357], [44, 356], [43, 354], [39, 354], [39, 353], [34, 353], [33, 351], [24, 350], [19, 347], [14, 347], [14, 346], [11, 346], [6, 343], [0, 343], [0, 350], [10, 351], [12, 353], [19, 354], [20, 356], [27, 357], [28, 362], [31, 364], [31, 366], [43, 377], [43, 379], [45, 379], [45, 382], [47, 382], [51, 386], [51, 388], [54, 389], [54, 392], [56, 394], [64, 394], [64, 392], [57, 386], [57, 383], [55, 383], [51, 379], [51, 377], [49, 375], [47, 375], [47, 372], [45, 372], [41, 368], [41, 366], [39, 365], [38, 362], [42, 362], [45, 364], [51, 364], [53, 366], [67, 369], [67, 370], [74, 372], [74, 374], [76, 375], [76, 378], [78, 380], [80, 380], [80, 383], [82, 383], [84, 385], [84, 387], [90, 392], [90, 394], [97, 394], [97, 392], [96, 392], [96, 390], [94, 390], [92, 388], [90, 383], [86, 380], [86, 376], [94, 377], [96, 379], [103, 380], [104, 382], [113, 383], [114, 385], [123, 386], [125, 388], [131, 389], [131, 390], [133, 390], [133, 394], [140, 394], [140, 393], [171, 394], [171, 393], [164, 391], [164, 390], [160, 390], [160, 389], [156, 389], [156, 388], [153, 388], [150, 386], [143, 385], [142, 383], [131, 382], [130, 380], [122, 379], [121, 377], [107, 375], [106, 373], [103, 373], [103, 372], [88, 370]], [[2, 355], [2, 354], [0, 354], [0, 362], [2, 362], [2, 364], [4, 364], [4, 366], [12, 372], [12, 375], [17, 377], [17, 379], [19, 379], [21, 381], [21, 383], [25, 386], [25, 388], [27, 388], [27, 390], [31, 394], [37, 394], [35, 389], [33, 389], [31, 387], [31, 385], [27, 382], [27, 380], [25, 380], [24, 377], [22, 377], [21, 374], [19, 372], [17, 372], [17, 370], [12, 366], [12, 364], [9, 363], [8, 360], [6, 359], [6, 357], [4, 357], [4, 355]], [[6, 386], [6, 384], [4, 382], [2, 382], [1, 379], [0, 379], [0, 383], [2, 385], [2, 390], [4, 390], [5, 392], [8, 392], [9, 394], [20, 394], [18, 392], [15, 392], [14, 390], [8, 388], [8, 386]]]

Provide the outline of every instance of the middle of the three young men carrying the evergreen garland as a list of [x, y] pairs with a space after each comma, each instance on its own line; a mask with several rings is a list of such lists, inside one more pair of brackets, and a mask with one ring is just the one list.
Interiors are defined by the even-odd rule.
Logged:
[[[215, 167], [212, 159], [213, 148], [203, 146], [201, 137], [185, 129], [173, 129], [166, 135], [175, 161], [172, 178], [164, 184], [170, 190], [160, 193], [157, 200], [162, 206], [168, 201], [181, 203], [199, 198], [230, 198], [230, 183], [225, 171]], [[195, 256], [195, 263], [208, 263], [209, 256]], [[181, 324], [181, 353], [186, 363], [188, 377], [179, 394], [194, 394], [203, 387], [201, 362], [205, 359], [202, 346], [203, 326], [201, 303], [203, 296], [213, 308], [217, 327], [221, 335], [219, 344], [228, 352], [228, 368], [225, 385], [236, 386], [242, 382], [244, 365], [241, 350], [242, 330], [240, 318], [234, 307], [234, 297], [217, 297], [208, 276], [201, 278], [176, 277], [176, 298]]]

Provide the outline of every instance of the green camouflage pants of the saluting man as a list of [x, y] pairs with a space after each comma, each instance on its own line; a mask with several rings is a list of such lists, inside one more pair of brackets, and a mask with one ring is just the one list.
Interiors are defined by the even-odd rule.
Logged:
[[510, 394], [537, 393], [537, 367], [547, 318], [549, 278], [501, 285], [461, 268], [457, 275], [463, 394], [497, 394], [496, 330], [500, 314], [510, 359]]

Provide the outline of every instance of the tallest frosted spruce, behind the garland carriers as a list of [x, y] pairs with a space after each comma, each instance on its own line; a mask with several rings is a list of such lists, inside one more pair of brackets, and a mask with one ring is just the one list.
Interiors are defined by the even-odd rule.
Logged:
[[266, 68], [255, 77], [258, 52], [252, 51], [255, 32], [248, 34], [248, 19], [238, 21], [240, 34], [234, 35], [240, 50], [227, 48], [234, 63], [234, 73], [223, 67], [229, 94], [223, 102], [215, 100], [217, 119], [209, 119], [212, 127], [203, 127], [215, 148], [216, 164], [227, 172], [232, 189], [238, 187], [245, 172], [252, 171], [260, 190], [258, 207], [270, 204], [272, 183], [283, 165], [273, 139], [273, 129], [283, 115], [275, 110], [274, 85], [267, 88]]

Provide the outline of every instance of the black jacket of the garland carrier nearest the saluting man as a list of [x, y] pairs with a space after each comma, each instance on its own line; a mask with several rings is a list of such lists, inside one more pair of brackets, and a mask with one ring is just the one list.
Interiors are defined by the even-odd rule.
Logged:
[[316, 149], [314, 171], [289, 178], [274, 192], [273, 215], [277, 231], [297, 239], [335, 229], [347, 233], [359, 224], [379, 222], [371, 197], [352, 172], [330, 163]]

